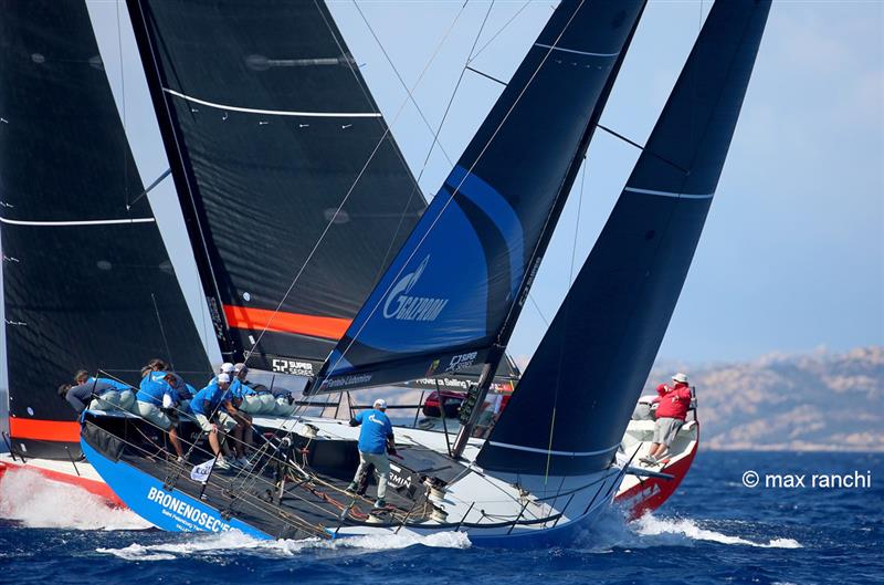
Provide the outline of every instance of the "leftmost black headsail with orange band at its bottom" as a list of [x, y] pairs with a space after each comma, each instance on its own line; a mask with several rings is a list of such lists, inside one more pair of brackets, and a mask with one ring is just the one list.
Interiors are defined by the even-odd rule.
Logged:
[[[13, 447], [80, 453], [56, 396], [208, 358], [135, 167], [84, 2], [0, 2], [0, 236]], [[130, 203], [133, 200], [136, 200]], [[70, 451], [67, 450], [70, 449]]]

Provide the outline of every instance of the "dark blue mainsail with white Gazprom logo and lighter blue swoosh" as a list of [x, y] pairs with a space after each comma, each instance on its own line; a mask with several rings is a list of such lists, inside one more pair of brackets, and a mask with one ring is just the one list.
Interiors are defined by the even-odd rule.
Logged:
[[559, 4], [311, 391], [495, 362], [643, 6]]

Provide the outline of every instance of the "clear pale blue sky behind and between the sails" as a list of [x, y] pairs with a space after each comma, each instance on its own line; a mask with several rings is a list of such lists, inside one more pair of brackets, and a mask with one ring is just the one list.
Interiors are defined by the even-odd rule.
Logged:
[[[640, 144], [648, 138], [709, 4], [649, 2], [603, 125]], [[114, 0], [88, 0], [87, 6], [133, 150], [147, 160], [141, 178], [149, 184], [168, 163], [157, 147], [159, 134], [125, 7], [118, 9]], [[425, 194], [436, 191], [451, 169], [449, 159], [456, 160], [501, 92], [501, 85], [467, 72], [439, 134], [441, 148], [423, 169], [433, 129], [485, 14], [471, 66], [508, 80], [552, 6], [360, 1], [364, 20], [354, 2], [329, 2]], [[533, 303], [509, 344], [520, 363], [539, 343], [638, 155], [635, 147], [596, 134], [533, 289]], [[160, 184], [150, 199], [217, 361], [171, 181]], [[739, 361], [820, 346], [884, 345], [882, 226], [884, 2], [775, 1], [712, 212], [659, 358]]]

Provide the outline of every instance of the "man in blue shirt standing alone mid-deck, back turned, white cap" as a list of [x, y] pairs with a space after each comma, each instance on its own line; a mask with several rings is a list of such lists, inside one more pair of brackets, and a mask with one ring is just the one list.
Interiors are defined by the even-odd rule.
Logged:
[[393, 426], [387, 418], [387, 403], [382, 399], [375, 400], [371, 410], [364, 410], [350, 420], [351, 427], [361, 425], [359, 431], [359, 467], [356, 470], [352, 481], [347, 487], [347, 491], [356, 491], [359, 478], [365, 473], [369, 464], [375, 466], [375, 473], [378, 476], [378, 500], [375, 508], [383, 508], [387, 502], [387, 482], [390, 479], [390, 460], [387, 459], [387, 447], [390, 445], [390, 452], [394, 453]]

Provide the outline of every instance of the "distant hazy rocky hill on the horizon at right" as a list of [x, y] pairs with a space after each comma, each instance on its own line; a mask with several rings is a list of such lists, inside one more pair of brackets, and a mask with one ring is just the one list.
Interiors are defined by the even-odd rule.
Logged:
[[659, 364], [644, 394], [675, 370], [697, 388], [702, 449], [884, 452], [884, 346]]

